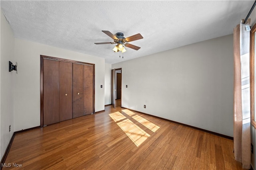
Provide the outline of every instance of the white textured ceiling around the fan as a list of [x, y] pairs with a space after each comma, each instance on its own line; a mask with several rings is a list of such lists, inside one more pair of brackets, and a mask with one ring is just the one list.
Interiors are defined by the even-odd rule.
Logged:
[[[2, 1], [14, 36], [118, 63], [233, 33], [254, 1]], [[124, 59], [102, 32], [140, 33]]]

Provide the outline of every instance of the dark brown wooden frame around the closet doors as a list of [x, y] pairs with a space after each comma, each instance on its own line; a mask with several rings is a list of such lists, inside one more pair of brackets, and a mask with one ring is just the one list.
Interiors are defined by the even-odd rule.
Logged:
[[68, 62], [68, 63], [86, 64], [86, 65], [93, 66], [93, 97], [92, 98], [93, 98], [93, 113], [95, 113], [95, 64], [40, 55], [40, 127], [44, 126], [44, 84], [43, 84], [43, 82], [44, 82], [44, 59], [64, 61], [64, 62]]

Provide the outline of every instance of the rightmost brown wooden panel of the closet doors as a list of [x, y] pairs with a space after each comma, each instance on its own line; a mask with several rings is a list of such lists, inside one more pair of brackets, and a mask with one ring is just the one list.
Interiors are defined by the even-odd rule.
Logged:
[[84, 115], [93, 113], [93, 66], [84, 65]]

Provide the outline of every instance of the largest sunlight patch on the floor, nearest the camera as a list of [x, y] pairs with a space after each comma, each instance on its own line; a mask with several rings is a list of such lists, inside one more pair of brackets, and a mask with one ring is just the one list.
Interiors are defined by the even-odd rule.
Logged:
[[148, 139], [148, 137], [150, 137], [148, 133], [135, 125], [129, 119], [120, 121], [117, 124], [137, 147], [139, 147], [144, 141]]

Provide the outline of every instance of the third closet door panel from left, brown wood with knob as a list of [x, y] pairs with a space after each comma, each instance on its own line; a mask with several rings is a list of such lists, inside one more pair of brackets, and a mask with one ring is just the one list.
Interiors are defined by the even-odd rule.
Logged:
[[73, 118], [84, 115], [84, 65], [73, 63]]

